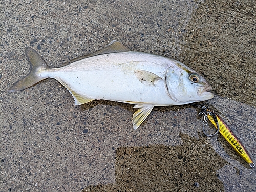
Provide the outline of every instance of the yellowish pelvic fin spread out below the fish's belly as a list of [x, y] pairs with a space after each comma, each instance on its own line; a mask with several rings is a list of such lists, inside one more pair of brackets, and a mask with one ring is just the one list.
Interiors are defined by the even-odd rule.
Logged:
[[135, 105], [134, 108], [139, 108], [138, 111], [136, 111], [133, 114], [133, 129], [136, 130], [141, 123], [147, 118], [148, 115], [150, 115], [150, 112], [154, 108], [154, 105], [150, 104], [139, 104]]

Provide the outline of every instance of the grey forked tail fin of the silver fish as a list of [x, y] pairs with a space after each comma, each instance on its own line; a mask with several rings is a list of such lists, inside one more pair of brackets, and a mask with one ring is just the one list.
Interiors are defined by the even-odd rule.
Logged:
[[30, 63], [30, 72], [23, 79], [18, 80], [13, 84], [13, 86], [9, 89], [10, 92], [21, 91], [25, 88], [33, 86], [33, 84], [38, 83], [41, 80], [44, 80], [48, 77], [42, 77], [41, 71], [48, 69], [49, 67], [45, 63], [44, 60], [33, 50], [31, 47], [27, 47], [25, 50], [25, 54]]

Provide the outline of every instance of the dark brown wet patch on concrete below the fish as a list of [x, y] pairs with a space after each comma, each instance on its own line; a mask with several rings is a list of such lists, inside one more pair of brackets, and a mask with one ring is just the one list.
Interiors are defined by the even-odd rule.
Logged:
[[217, 170], [227, 163], [205, 137], [180, 134], [181, 146], [153, 145], [116, 150], [115, 184], [86, 191], [224, 191]]

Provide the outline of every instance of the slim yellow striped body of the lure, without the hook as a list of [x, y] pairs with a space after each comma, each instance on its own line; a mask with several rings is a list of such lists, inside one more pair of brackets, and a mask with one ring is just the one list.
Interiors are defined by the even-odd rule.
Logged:
[[[209, 111], [209, 110], [207, 110]], [[212, 111], [210, 111], [212, 112]], [[213, 113], [213, 112], [212, 112]], [[215, 113], [214, 113], [215, 114]], [[229, 127], [226, 125], [226, 123], [217, 115], [217, 121], [219, 123], [219, 127], [220, 127], [220, 133], [221, 135], [227, 140], [227, 142], [233, 147], [233, 149], [247, 162], [249, 163], [250, 167], [255, 167], [255, 164], [253, 163], [253, 161], [251, 160], [250, 155], [248, 154], [248, 152], [246, 151], [245, 147], [242, 145], [242, 143], [238, 140], [238, 138], [236, 137], [236, 135], [234, 135], [232, 133], [232, 131], [229, 129]], [[210, 122], [212, 123], [212, 125], [214, 125], [216, 127], [216, 129], [218, 129], [217, 123], [214, 120], [214, 116], [210, 115], [210, 113], [207, 113], [207, 117], [210, 120]]]

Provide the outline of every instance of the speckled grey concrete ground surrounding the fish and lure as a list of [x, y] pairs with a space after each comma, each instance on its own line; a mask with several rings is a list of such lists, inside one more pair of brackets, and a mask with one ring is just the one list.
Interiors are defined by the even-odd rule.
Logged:
[[134, 131], [132, 105], [75, 106], [53, 79], [22, 92], [34, 48], [50, 68], [118, 40], [174, 58], [212, 85], [256, 161], [255, 1], [1, 1], [0, 191], [256, 191], [256, 168], [220, 136], [202, 134], [199, 109], [154, 108]]

